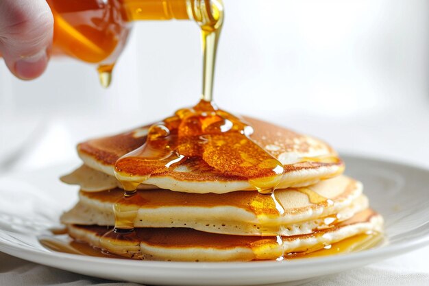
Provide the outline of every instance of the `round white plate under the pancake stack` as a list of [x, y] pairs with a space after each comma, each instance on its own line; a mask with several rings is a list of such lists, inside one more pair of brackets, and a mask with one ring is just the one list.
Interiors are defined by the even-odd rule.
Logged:
[[429, 170], [384, 160], [343, 156], [346, 173], [363, 181], [385, 219], [387, 243], [352, 254], [293, 261], [181, 263], [85, 257], [47, 250], [38, 235], [58, 225], [77, 190], [58, 181], [62, 166], [0, 177], [0, 251], [80, 274], [152, 285], [302, 283], [387, 259], [429, 244]]

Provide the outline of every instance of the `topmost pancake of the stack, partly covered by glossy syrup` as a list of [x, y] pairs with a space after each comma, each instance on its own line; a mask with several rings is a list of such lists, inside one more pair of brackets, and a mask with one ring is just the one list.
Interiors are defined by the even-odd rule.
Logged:
[[[245, 119], [254, 127], [251, 138], [284, 165], [279, 189], [308, 186], [342, 173], [343, 162], [326, 143], [265, 121]], [[143, 145], [148, 129], [149, 126], [144, 126], [130, 132], [92, 139], [80, 143], [77, 152], [86, 166], [114, 176], [117, 160]], [[134, 178], [138, 179], [138, 176]], [[187, 158], [179, 167], [150, 176], [145, 184], [188, 193], [254, 190], [247, 178], [223, 174], [201, 158], [194, 157]]]

